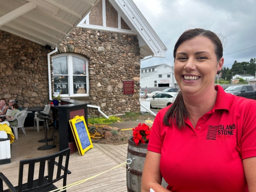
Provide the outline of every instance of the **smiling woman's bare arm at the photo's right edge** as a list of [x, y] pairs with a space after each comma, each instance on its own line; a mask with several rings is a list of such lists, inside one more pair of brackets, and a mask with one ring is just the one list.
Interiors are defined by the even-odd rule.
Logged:
[[256, 191], [256, 157], [244, 159], [243, 165], [249, 192], [254, 192]]

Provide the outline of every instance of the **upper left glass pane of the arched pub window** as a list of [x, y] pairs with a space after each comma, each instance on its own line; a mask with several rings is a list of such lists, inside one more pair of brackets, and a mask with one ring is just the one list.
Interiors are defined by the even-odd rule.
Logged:
[[53, 59], [53, 74], [68, 75], [67, 56], [61, 56]]

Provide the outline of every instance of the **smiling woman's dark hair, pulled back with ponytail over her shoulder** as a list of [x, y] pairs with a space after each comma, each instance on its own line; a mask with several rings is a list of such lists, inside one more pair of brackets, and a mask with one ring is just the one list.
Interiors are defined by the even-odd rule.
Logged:
[[[173, 50], [173, 57], [174, 61], [176, 58], [176, 52], [178, 47], [183, 43], [184, 41], [190, 40], [197, 36], [204, 36], [209, 38], [213, 44], [215, 45], [215, 54], [217, 57], [217, 60], [219, 61], [223, 56], [223, 47], [220, 38], [214, 33], [209, 30], [205, 29], [190, 29], [185, 32], [183, 32], [176, 42]], [[166, 114], [163, 117], [163, 123], [165, 125], [171, 125], [172, 123], [176, 123], [179, 129], [182, 127], [185, 127], [185, 120], [188, 118], [188, 112], [185, 108], [182, 92], [180, 91], [173, 102], [172, 106], [168, 109]]]

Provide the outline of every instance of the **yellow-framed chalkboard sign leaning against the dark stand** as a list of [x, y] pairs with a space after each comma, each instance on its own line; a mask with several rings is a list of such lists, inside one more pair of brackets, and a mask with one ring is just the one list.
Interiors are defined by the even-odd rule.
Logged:
[[93, 143], [83, 116], [69, 120], [75, 143], [80, 155], [93, 148]]

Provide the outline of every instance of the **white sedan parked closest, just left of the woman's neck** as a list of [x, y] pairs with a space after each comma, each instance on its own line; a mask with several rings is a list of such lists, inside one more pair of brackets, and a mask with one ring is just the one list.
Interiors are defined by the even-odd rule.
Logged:
[[146, 101], [150, 101], [150, 108], [164, 108], [173, 103], [176, 95], [177, 93], [161, 92], [156, 96], [147, 98]]

